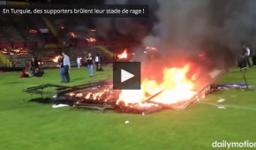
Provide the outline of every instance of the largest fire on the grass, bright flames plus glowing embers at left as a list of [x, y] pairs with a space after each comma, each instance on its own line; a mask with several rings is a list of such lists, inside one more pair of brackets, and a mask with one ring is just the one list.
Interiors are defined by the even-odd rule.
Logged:
[[92, 87], [86, 91], [68, 94], [77, 106], [111, 106], [119, 112], [147, 113], [160, 109], [184, 109], [192, 101], [204, 98], [205, 93], [195, 90], [191, 65], [163, 69], [162, 81], [144, 79], [140, 90], [113, 90], [113, 85]]

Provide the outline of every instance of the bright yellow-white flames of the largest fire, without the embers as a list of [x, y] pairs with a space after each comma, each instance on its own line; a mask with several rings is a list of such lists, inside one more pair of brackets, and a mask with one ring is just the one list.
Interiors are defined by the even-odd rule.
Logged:
[[168, 105], [178, 101], [188, 101], [197, 94], [193, 90], [195, 85], [192, 79], [186, 77], [189, 69], [188, 64], [183, 68], [165, 68], [162, 83], [144, 79], [140, 90], [123, 90], [119, 94], [117, 103], [122, 101], [125, 105], [129, 105], [148, 101], [149, 98], [150, 101]]

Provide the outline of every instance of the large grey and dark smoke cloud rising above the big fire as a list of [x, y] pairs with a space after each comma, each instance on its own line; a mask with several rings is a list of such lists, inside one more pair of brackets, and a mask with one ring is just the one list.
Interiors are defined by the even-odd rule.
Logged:
[[256, 43], [255, 0], [106, 0], [106, 4], [149, 4], [149, 19], [96, 20], [100, 35], [132, 37], [141, 42], [134, 48], [140, 51], [155, 46], [169, 57], [206, 51], [208, 62], [226, 67], [235, 64], [241, 41]]

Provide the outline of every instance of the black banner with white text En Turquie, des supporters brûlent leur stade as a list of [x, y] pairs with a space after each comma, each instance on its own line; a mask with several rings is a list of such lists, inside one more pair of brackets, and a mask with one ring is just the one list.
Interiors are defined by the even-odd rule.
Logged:
[[0, 15], [73, 16], [86, 18], [147, 18], [147, 4], [139, 5], [28, 5], [1, 6]]

